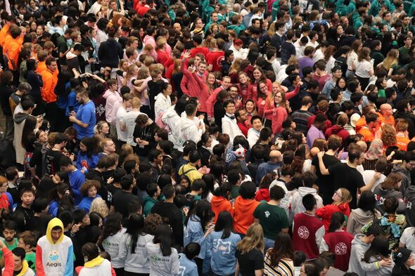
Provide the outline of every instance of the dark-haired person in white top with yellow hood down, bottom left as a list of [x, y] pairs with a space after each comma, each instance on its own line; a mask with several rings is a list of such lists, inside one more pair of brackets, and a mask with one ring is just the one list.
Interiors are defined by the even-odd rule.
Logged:
[[98, 254], [98, 247], [92, 242], [87, 242], [82, 246], [82, 255], [87, 260], [83, 267], [77, 267], [75, 270], [79, 276], [89, 275], [112, 275], [113, 268], [110, 261], [102, 258]]

